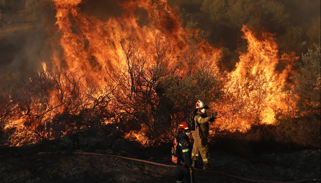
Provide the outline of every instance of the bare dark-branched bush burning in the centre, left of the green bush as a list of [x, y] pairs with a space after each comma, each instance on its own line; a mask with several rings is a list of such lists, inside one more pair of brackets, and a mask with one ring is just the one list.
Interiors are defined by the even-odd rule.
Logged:
[[[159, 108], [161, 96], [157, 95], [160, 80], [173, 74], [175, 66], [167, 66], [166, 42], [161, 37], [156, 37], [154, 52], [144, 50], [141, 42], [135, 37], [121, 41], [122, 52], [125, 56], [124, 66], [119, 61], [118, 66], [108, 65], [106, 68], [110, 76], [110, 82], [115, 87], [113, 96], [113, 108], [120, 129], [130, 134], [134, 131], [143, 133], [129, 137], [140, 140], [143, 144], [152, 145], [163, 141], [162, 137], [168, 134], [171, 121], [166, 109]], [[149, 57], [155, 58], [155, 64], [151, 64]], [[167, 122], [166, 122], [167, 121]], [[144, 139], [147, 137], [147, 139]], [[151, 140], [153, 141], [151, 142]]]

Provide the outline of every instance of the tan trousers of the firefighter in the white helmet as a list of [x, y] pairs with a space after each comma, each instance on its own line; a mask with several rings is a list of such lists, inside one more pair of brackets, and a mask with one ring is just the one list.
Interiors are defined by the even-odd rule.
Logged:
[[194, 144], [192, 151], [192, 159], [197, 160], [198, 156], [201, 155], [204, 163], [208, 163], [210, 158], [210, 153], [208, 151], [208, 142], [207, 139], [201, 139], [198, 133], [198, 129], [193, 132]]

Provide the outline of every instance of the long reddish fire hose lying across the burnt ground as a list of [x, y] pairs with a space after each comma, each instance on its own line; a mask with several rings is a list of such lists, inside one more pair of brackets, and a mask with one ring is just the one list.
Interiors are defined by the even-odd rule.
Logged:
[[[140, 159], [135, 159], [135, 158], [123, 157], [123, 156], [117, 156], [117, 155], [112, 155], [112, 154], [98, 154], [98, 153], [87, 153], [87, 152], [40, 152], [40, 153], [37, 153], [37, 154], [34, 154], [34, 155], [38, 155], [38, 154], [93, 154], [93, 155], [107, 155], [107, 156], [114, 156], [114, 157], [118, 157], [118, 158], [124, 158], [124, 159], [128, 159], [128, 160], [134, 160], [134, 161], [138, 161], [138, 162], [145, 162], [145, 163], [150, 163], [150, 164], [155, 164], [155, 165], [160, 165], [160, 166], [176, 167], [176, 165], [161, 164], [161, 163], [150, 162], [150, 161], [146, 161], [146, 160], [140, 160]], [[242, 180], [247, 180], [247, 181], [252, 181], [252, 182], [294, 183], [294, 182], [304, 182], [304, 181], [321, 181], [320, 179], [303, 179], [303, 180], [296, 180], [296, 181], [255, 180], [255, 179], [247, 179], [247, 178], [243, 178], [243, 177], [238, 177], [238, 176], [235, 176], [235, 175], [230, 175], [230, 174], [219, 172], [219, 171], [208, 171], [208, 170], [202, 170], [202, 169], [197, 169], [197, 168], [195, 168], [194, 170], [218, 173], [218, 174], [229, 176], [229, 177], [233, 177], [233, 178], [236, 178], [236, 179], [242, 179]], [[191, 174], [191, 178], [192, 178], [192, 174]]]

